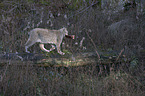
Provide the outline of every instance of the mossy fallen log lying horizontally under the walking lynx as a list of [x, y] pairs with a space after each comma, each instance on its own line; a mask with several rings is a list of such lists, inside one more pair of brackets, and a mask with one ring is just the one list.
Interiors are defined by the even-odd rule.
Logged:
[[[97, 54], [94, 52], [86, 52], [86, 53], [76, 53], [76, 54], [66, 54], [64, 56], [54, 55], [54, 56], [46, 56], [45, 54], [28, 54], [28, 53], [9, 53], [9, 54], [1, 54], [0, 55], [0, 65], [8, 64], [10, 65], [18, 65], [21, 62], [25, 62], [26, 64], [33, 64], [34, 66], [45, 66], [45, 67], [70, 67], [70, 66], [84, 66], [84, 65], [107, 65], [119, 62], [128, 62], [126, 57], [120, 56], [116, 62], [117, 56], [109, 55], [103, 56], [103, 52], [100, 52], [101, 63], [97, 58]], [[21, 64], [19, 64], [21, 65]]]

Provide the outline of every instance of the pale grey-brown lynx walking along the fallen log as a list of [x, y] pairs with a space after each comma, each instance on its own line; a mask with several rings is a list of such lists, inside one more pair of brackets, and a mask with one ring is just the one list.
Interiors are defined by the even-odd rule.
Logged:
[[[27, 53], [30, 53], [28, 51], [28, 48], [36, 42], [40, 42], [39, 47], [41, 48], [41, 50], [50, 52], [55, 49], [54, 45], [56, 45], [57, 52], [61, 55], [64, 55], [65, 53], [61, 52], [60, 50], [60, 45], [62, 43], [63, 38], [67, 35], [68, 31], [66, 28], [61, 28], [59, 30], [35, 28], [29, 33], [29, 39], [25, 44], [25, 50]], [[44, 48], [44, 44], [46, 43], [51, 44], [52, 48], [50, 50]]]

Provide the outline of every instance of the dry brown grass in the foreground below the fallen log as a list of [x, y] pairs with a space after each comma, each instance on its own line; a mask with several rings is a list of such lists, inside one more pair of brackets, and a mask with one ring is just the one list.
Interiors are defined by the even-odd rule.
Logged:
[[[44, 68], [29, 63], [1, 67], [1, 96], [143, 96], [140, 76], [112, 71], [99, 76], [86, 67]], [[6, 70], [6, 72], [5, 72]], [[5, 72], [5, 73], [4, 73]], [[95, 73], [94, 73], [95, 72]], [[93, 73], [93, 74], [92, 74]], [[140, 73], [140, 75], [143, 73]]]

